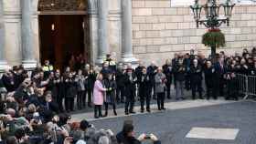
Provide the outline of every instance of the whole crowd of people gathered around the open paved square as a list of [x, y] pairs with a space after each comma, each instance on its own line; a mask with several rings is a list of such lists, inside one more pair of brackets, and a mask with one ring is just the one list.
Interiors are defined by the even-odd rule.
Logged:
[[[76, 131], [85, 133], [91, 126], [86, 120], [70, 125], [68, 113], [71, 111], [93, 107], [94, 118], [101, 118], [108, 116], [110, 106], [113, 114], [118, 115], [116, 106], [123, 103], [124, 113], [129, 115], [135, 113], [133, 106], [138, 100], [141, 112], [150, 113], [153, 99], [158, 110], [165, 110], [165, 98], [187, 99], [185, 90], [191, 90], [192, 99], [196, 99], [198, 93], [198, 98], [238, 100], [236, 75], [256, 76], [256, 48], [251, 52], [244, 49], [242, 54], [235, 56], [227, 56], [222, 51], [214, 61], [201, 52], [194, 55], [191, 50], [190, 54], [179, 53], [173, 59], [166, 59], [163, 66], [152, 62], [145, 67], [141, 61], [134, 69], [131, 64], [117, 64], [110, 55], [101, 67], [85, 64], [82, 57], [71, 59], [63, 72], [48, 60], [31, 72], [22, 66], [5, 70], [0, 80], [0, 136], [5, 139], [2, 142], [24, 143], [27, 135], [30, 143], [79, 142], [75, 138]], [[137, 141], [133, 137], [133, 124], [125, 123], [124, 126], [126, 141]], [[123, 138], [122, 133], [111, 137], [110, 130], [102, 133], [109, 138]], [[82, 140], [97, 141], [101, 138], [99, 135], [87, 138], [82, 134]], [[133, 139], [127, 139], [128, 135]], [[154, 135], [144, 134], [137, 142], [143, 139], [158, 141]]]

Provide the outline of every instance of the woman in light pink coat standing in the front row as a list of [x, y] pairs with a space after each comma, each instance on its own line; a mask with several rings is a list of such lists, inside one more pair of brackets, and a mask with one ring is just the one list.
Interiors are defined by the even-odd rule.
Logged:
[[[101, 81], [102, 74], [98, 74], [93, 88], [94, 118], [102, 117], [101, 106], [104, 102], [106, 88], [103, 87]], [[97, 112], [99, 112], [99, 115], [97, 114]]]

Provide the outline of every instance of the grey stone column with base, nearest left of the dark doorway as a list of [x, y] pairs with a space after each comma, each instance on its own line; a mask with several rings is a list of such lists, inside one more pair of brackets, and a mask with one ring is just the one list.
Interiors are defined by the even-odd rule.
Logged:
[[21, 39], [22, 39], [22, 64], [31, 69], [37, 67], [33, 47], [32, 32], [32, 0], [21, 0]]

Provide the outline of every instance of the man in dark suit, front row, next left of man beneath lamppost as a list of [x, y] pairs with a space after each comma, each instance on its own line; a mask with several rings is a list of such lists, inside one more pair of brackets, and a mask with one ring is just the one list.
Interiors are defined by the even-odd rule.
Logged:
[[193, 65], [190, 67], [192, 98], [196, 98], [196, 91], [199, 93], [199, 98], [202, 97], [202, 67], [198, 65], [197, 59], [193, 60]]

